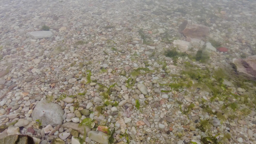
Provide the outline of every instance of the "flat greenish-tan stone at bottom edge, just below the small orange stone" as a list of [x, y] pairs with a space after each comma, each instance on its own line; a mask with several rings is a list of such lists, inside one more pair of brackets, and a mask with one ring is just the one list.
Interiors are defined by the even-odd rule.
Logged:
[[99, 144], [109, 144], [109, 136], [105, 132], [90, 131], [87, 135], [91, 140]]

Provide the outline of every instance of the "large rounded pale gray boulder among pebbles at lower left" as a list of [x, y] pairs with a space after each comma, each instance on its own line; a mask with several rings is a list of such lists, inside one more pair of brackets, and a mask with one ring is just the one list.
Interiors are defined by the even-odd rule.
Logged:
[[60, 105], [41, 100], [37, 103], [36, 107], [32, 112], [33, 120], [40, 120], [42, 126], [52, 125], [57, 126], [63, 122], [64, 111]]

